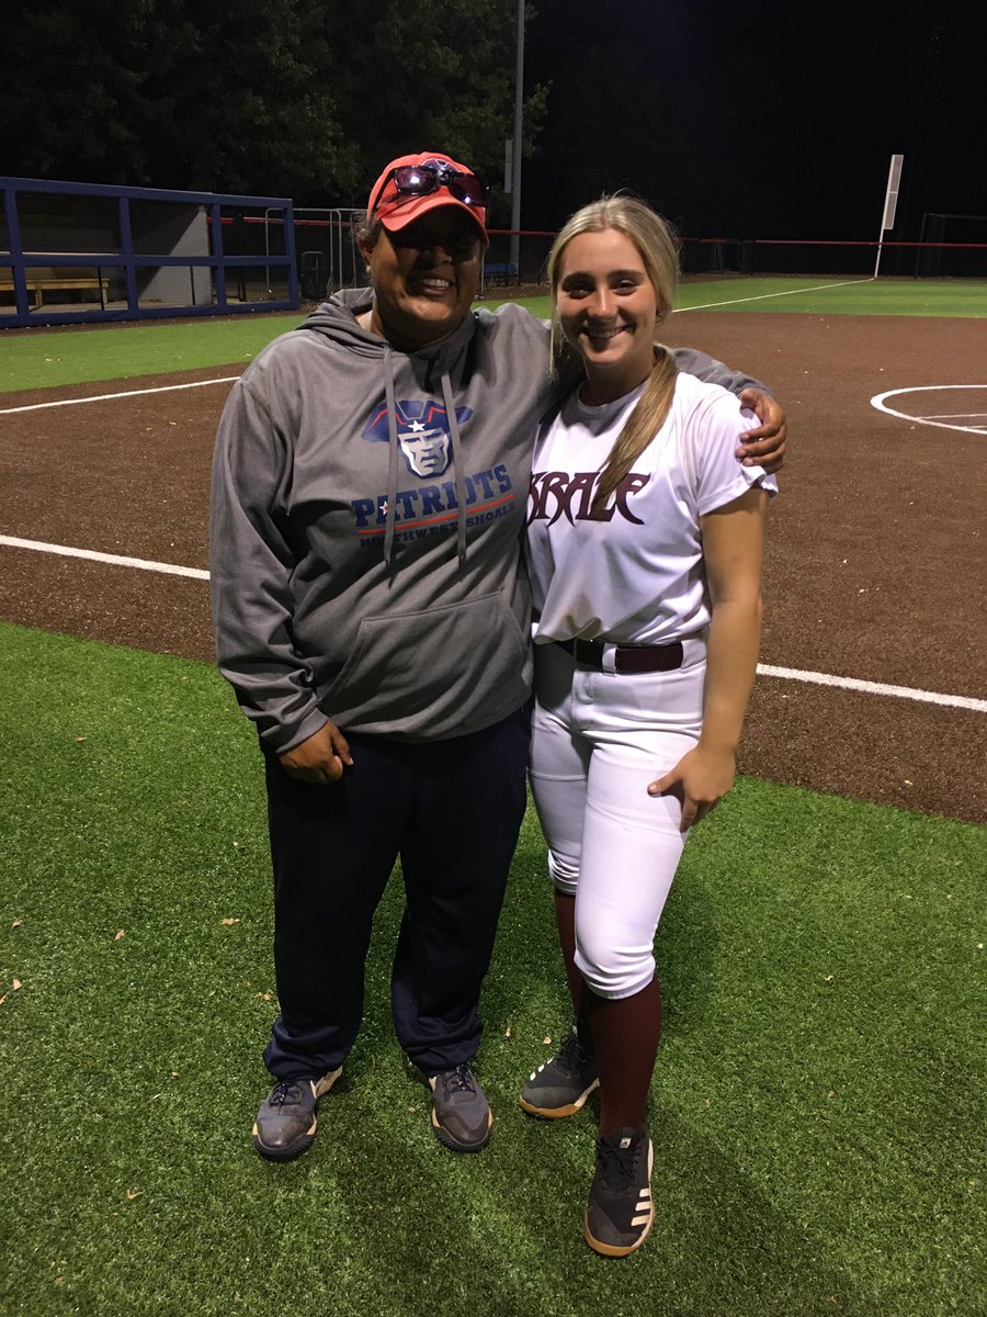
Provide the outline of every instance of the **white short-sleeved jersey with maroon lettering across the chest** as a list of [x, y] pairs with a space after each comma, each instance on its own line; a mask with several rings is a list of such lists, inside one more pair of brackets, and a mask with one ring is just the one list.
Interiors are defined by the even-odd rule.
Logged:
[[665, 424], [590, 519], [600, 470], [644, 385], [603, 407], [572, 392], [536, 440], [528, 502], [534, 640], [659, 645], [711, 619], [699, 519], [774, 477], [734, 449], [758, 424], [733, 394], [679, 374]]

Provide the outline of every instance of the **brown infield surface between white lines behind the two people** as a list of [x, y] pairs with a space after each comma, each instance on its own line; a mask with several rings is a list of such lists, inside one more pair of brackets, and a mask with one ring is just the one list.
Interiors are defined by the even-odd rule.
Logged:
[[[791, 456], [769, 532], [765, 664], [984, 697], [987, 436], [870, 406], [890, 389], [987, 383], [983, 336], [975, 320], [683, 312], [670, 323], [667, 341], [742, 366], [788, 410]], [[228, 390], [0, 415], [0, 533], [204, 569], [212, 439]], [[100, 383], [8, 394], [0, 404], [113, 391]], [[0, 545], [0, 616], [212, 658], [200, 579]], [[741, 768], [983, 822], [986, 731], [975, 710], [762, 677]]]

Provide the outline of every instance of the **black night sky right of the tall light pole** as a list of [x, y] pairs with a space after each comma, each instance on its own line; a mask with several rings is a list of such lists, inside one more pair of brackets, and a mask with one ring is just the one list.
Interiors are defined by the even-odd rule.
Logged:
[[[896, 237], [987, 213], [987, 7], [534, 0], [525, 83], [553, 80], [522, 225], [629, 187], [687, 236]], [[965, 7], [966, 9], [967, 7]], [[594, 163], [591, 163], [594, 162]]]

